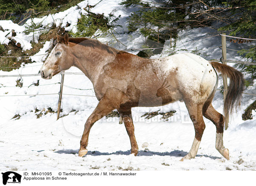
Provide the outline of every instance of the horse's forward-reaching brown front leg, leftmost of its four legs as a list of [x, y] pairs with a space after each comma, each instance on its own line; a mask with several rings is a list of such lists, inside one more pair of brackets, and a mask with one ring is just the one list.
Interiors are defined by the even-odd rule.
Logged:
[[99, 104], [97, 105], [95, 110], [93, 110], [93, 113], [89, 116], [84, 125], [84, 133], [80, 141], [80, 149], [78, 153], [79, 157], [83, 157], [85, 154], [87, 154], [86, 147], [88, 145], [90, 128], [96, 121], [101, 119], [103, 116], [106, 116], [113, 109], [114, 108], [109, 104], [109, 100], [105, 96], [103, 96], [103, 98], [99, 101]]

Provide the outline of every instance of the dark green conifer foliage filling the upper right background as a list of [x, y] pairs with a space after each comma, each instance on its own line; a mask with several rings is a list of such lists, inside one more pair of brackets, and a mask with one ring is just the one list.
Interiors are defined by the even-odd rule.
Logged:
[[[135, 7], [128, 29], [147, 39], [162, 43], [177, 38], [177, 32], [187, 26], [208, 26], [228, 35], [256, 38], [256, 0], [122, 0], [125, 7]], [[256, 42], [244, 45], [239, 55], [256, 61]], [[238, 65], [256, 78], [256, 65]]]

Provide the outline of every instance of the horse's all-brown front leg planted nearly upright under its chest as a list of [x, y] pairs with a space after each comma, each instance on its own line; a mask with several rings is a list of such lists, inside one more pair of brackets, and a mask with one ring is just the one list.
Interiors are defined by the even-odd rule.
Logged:
[[134, 124], [132, 121], [132, 116], [131, 116], [131, 108], [127, 110], [118, 110], [120, 117], [122, 117], [122, 120], [125, 124], [125, 128], [127, 131], [127, 134], [130, 138], [131, 142], [131, 154], [134, 154], [136, 156], [138, 154], [138, 145], [134, 136]]

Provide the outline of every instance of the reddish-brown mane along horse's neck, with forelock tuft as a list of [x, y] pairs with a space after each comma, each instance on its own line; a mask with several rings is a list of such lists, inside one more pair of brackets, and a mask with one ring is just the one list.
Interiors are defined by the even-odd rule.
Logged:
[[[64, 37], [59, 36], [59, 41], [63, 41]], [[68, 42], [74, 43], [74, 44], [80, 44], [82, 46], [91, 46], [93, 48], [99, 48], [108, 51], [110, 54], [116, 54], [120, 50], [112, 48], [111, 46], [108, 46], [106, 44], [102, 44], [100, 41], [96, 39], [90, 39], [90, 38], [68, 38]]]

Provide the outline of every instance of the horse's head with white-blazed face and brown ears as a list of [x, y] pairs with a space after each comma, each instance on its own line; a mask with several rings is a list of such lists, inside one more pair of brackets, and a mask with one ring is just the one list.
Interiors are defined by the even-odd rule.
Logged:
[[68, 34], [64, 37], [57, 35], [58, 44], [52, 49], [48, 58], [40, 69], [41, 77], [50, 79], [62, 70], [67, 70], [73, 65], [73, 58], [70, 52]]

